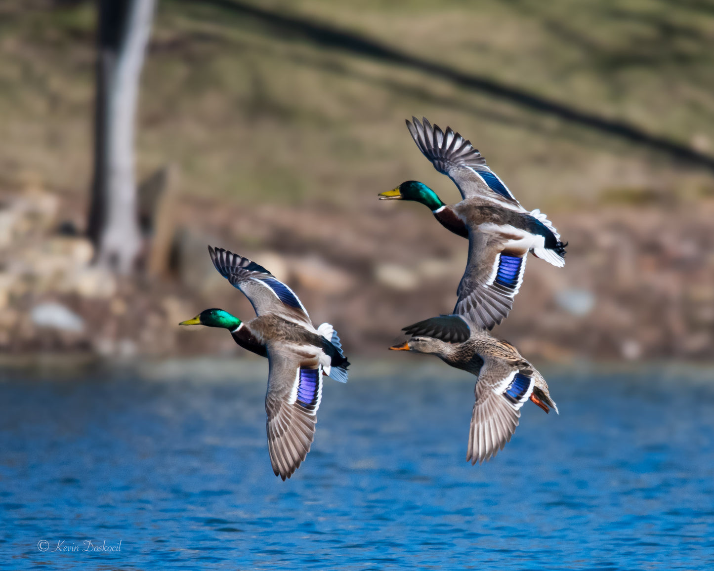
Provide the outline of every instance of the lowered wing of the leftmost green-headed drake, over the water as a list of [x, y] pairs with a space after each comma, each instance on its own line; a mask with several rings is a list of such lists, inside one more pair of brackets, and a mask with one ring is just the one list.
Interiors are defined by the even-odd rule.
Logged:
[[268, 452], [273, 473], [291, 477], [305, 460], [322, 398], [322, 366], [317, 358], [301, 360], [284, 348], [268, 345]]

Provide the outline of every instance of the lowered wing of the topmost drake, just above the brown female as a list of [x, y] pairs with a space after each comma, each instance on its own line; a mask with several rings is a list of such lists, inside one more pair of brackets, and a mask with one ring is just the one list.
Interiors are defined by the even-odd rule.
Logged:
[[468, 261], [458, 284], [453, 313], [464, 315], [484, 329], [492, 329], [513, 308], [523, 283], [528, 250], [504, 248], [498, 235], [469, 231]]

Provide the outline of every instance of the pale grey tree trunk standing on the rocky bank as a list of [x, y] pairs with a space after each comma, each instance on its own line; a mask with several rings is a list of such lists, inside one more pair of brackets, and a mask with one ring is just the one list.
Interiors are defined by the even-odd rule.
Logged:
[[101, 133], [106, 137], [104, 173], [95, 174], [95, 177], [103, 177], [98, 190], [104, 195], [99, 207], [101, 223], [96, 233], [96, 261], [120, 273], [134, 269], [141, 249], [134, 176], [134, 123], [139, 77], [155, 6], [156, 0], [131, 0], [116, 59], [111, 54], [101, 56], [114, 61], [102, 62], [108, 73], [104, 84], [106, 116], [104, 133]]

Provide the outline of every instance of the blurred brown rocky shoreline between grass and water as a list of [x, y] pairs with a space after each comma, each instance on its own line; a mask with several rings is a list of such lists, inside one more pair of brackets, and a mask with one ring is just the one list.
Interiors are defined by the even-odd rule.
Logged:
[[[328, 320], [353, 355], [381, 353], [403, 326], [448, 313], [466, 241], [426, 209], [363, 201], [238, 208], [183, 201], [169, 272], [113, 276], [67, 231], [73, 208], [41, 191], [0, 209], [0, 351], [233, 355], [228, 335], [179, 328], [207, 307], [253, 310], [213, 270], [206, 245], [250, 257]], [[511, 316], [494, 333], [529, 358], [564, 361], [714, 356], [714, 202], [549, 213], [567, 240], [563, 270], [530, 257]]]

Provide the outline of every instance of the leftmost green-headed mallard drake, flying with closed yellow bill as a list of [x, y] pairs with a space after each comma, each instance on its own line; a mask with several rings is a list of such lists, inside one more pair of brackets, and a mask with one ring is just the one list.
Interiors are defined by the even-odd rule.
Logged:
[[179, 325], [228, 329], [238, 345], [268, 358], [268, 450], [273, 472], [285, 480], [310, 452], [323, 373], [346, 383], [349, 363], [332, 325], [314, 328], [297, 295], [266, 268], [223, 248], [208, 246], [208, 252], [257, 317], [244, 323], [222, 309], [207, 309]]

